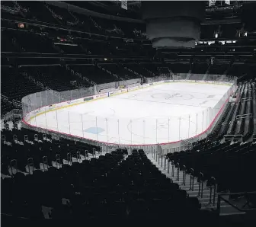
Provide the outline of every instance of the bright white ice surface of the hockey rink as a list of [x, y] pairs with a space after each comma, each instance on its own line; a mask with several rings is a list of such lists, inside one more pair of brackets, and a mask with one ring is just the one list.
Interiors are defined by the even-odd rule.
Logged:
[[229, 85], [175, 82], [43, 113], [33, 126], [126, 145], [176, 142], [202, 133]]

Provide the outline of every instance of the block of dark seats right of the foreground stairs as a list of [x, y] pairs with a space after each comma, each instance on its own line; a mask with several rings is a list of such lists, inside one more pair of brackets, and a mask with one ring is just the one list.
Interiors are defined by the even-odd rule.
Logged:
[[[239, 142], [198, 142], [194, 148], [184, 152], [168, 154], [174, 164], [186, 166], [187, 170], [194, 169], [194, 175], [203, 173], [203, 180], [215, 177], [218, 191], [231, 192], [254, 191], [255, 185], [251, 179], [254, 176], [253, 160], [256, 155], [255, 144]], [[239, 179], [239, 184], [238, 184]]]

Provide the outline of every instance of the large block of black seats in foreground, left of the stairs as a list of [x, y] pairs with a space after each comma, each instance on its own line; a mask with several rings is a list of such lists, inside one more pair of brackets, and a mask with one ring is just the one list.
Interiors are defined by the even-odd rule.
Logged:
[[[21, 187], [22, 185], [22, 187]], [[197, 198], [171, 182], [142, 150], [127, 158], [117, 152], [82, 163], [15, 174], [2, 179], [2, 213], [29, 219], [43, 218], [95, 224], [97, 219], [115, 225], [137, 222], [141, 225], [200, 222], [203, 217]], [[46, 211], [42, 215], [42, 207]], [[32, 209], [34, 210], [32, 211]], [[187, 216], [189, 220], [181, 220]]]

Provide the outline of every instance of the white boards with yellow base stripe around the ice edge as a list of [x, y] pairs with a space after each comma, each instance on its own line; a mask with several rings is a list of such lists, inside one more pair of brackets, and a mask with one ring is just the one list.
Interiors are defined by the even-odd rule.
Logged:
[[[46, 107], [40, 107], [37, 110], [34, 110], [34, 111], [31, 111], [30, 113], [27, 113], [27, 115], [24, 117], [24, 123], [26, 123], [29, 126], [35, 127], [35, 128], [40, 128], [38, 126], [31, 125], [29, 122], [34, 117], [37, 117], [37, 116], [39, 116], [43, 113], [47, 113], [47, 112], [50, 112], [50, 111], [53, 111], [53, 110], [59, 110], [59, 109], [66, 108], [66, 107], [72, 107], [72, 106], [78, 105], [78, 104], [84, 104], [85, 102], [88, 102], [88, 101], [94, 101], [94, 100], [101, 99], [101, 98], [107, 98], [107, 97], [112, 96], [112, 95], [123, 94], [123, 93], [130, 92], [130, 91], [136, 91], [138, 89], [146, 88], [146, 87], [149, 87], [149, 86], [152, 86], [152, 85], [160, 85], [160, 84], [163, 84], [163, 83], [172, 83], [172, 82], [187, 82], [187, 83], [215, 84], [215, 85], [228, 85], [228, 86], [232, 85], [231, 83], [228, 83], [228, 82], [212, 82], [212, 81], [206, 82], [206, 81], [192, 81], [192, 80], [177, 80], [177, 81], [167, 80], [167, 81], [162, 81], [162, 82], [153, 82], [153, 83], [146, 84], [146, 85], [137, 85], [137, 86], [134, 86], [132, 88], [123, 88], [123, 89], [120, 89], [120, 90], [117, 90], [117, 91], [110, 91], [110, 92], [107, 92], [107, 93], [104, 93], [104, 94], [97, 94], [97, 95], [90, 96], [90, 97], [79, 98], [77, 100], [65, 101], [65, 102], [62, 102], [62, 103], [59, 103], [59, 104], [53, 104], [53, 105], [49, 105], [49, 106], [46, 106]], [[229, 88], [229, 91], [231, 91], [231, 90], [232, 89]], [[229, 94], [230, 94], [230, 92], [229, 92]], [[214, 120], [216, 120], [216, 118], [213, 119], [213, 121]], [[45, 126], [41, 127], [41, 129], [46, 129], [46, 130], [51, 131], [53, 133], [65, 134], [66, 136], [73, 136], [73, 137], [75, 136], [75, 135], [70, 135], [68, 133], [61, 133], [59, 131], [54, 131], [53, 129], [47, 129]], [[86, 138], [86, 136], [85, 137], [75, 136], [75, 137], [78, 137], [78, 138], [81, 138], [81, 139], [87, 139], [87, 140], [91, 140], [91, 141], [95, 142], [95, 139], [89, 139], [89, 138]], [[193, 136], [193, 137], [195, 137], [195, 136]], [[104, 144], [117, 145], [117, 143], [108, 143], [108, 142], [102, 142], [102, 141], [99, 141], [99, 142], [104, 143]], [[171, 144], [171, 143], [174, 144], [175, 142], [165, 142], [165, 143], [162, 143], [162, 144], [167, 145], [167, 144]], [[120, 144], [120, 145], [122, 145], [122, 144]], [[123, 145], [129, 146], [129, 144], [123, 144]], [[132, 145], [136, 145], [136, 144], [132, 144]], [[148, 144], [144, 144], [144, 145], [148, 145]]]

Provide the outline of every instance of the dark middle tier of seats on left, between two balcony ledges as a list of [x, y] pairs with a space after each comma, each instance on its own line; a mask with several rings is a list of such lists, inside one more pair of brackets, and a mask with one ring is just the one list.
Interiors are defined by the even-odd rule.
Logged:
[[65, 30], [53, 30], [34, 26], [27, 28], [2, 29], [3, 52], [26, 53], [68, 53], [68, 54], [98, 54], [104, 56], [152, 56], [152, 46], [142, 46], [140, 43], [126, 43], [124, 40], [106, 41], [102, 37], [95, 39], [81, 38], [75, 32], [67, 34]]

